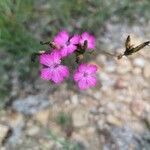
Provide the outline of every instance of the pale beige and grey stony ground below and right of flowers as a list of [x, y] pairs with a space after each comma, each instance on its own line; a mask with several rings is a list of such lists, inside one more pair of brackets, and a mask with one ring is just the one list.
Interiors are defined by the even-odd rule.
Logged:
[[121, 60], [101, 53], [123, 52], [128, 34], [135, 44], [150, 39], [142, 23], [107, 22], [100, 31], [92, 60], [99, 65], [96, 88], [81, 92], [71, 83], [55, 87], [39, 79], [34, 94], [24, 94], [30, 87], [22, 91], [0, 113], [1, 149], [149, 150], [150, 47]]

